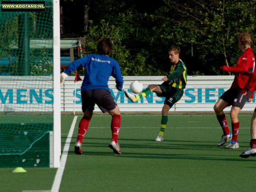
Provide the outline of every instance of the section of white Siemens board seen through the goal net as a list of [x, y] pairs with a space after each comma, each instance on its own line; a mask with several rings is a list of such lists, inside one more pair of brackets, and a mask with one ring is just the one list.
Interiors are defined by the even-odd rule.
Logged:
[[0, 76], [0, 112], [52, 111], [52, 76]]

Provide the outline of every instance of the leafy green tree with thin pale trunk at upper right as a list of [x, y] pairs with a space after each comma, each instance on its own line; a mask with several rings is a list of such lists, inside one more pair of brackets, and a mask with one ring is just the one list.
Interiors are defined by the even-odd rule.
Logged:
[[[234, 64], [240, 55], [237, 36], [248, 31], [255, 36], [256, 2], [233, 0], [164, 0], [165, 6], [151, 14], [158, 20], [154, 27], [156, 38], [162, 42], [173, 40], [187, 52], [193, 49], [202, 66], [209, 66], [210, 73], [220, 74], [219, 66]], [[194, 64], [193, 64], [194, 67]], [[209, 68], [209, 67], [208, 67]]]

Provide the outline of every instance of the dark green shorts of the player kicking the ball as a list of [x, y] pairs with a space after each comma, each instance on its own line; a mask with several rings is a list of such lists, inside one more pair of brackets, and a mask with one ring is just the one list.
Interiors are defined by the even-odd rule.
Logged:
[[170, 108], [180, 100], [183, 95], [183, 89], [178, 89], [174, 87], [170, 87], [168, 83], [164, 82], [163, 84], [159, 85], [162, 93], [157, 94], [159, 97], [165, 97], [164, 104], [167, 104]]

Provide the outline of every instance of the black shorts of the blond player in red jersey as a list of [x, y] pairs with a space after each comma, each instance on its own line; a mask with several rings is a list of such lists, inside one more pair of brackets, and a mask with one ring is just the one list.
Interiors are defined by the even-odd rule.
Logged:
[[234, 105], [242, 109], [246, 101], [250, 98], [252, 92], [248, 91], [247, 95], [244, 96], [241, 91], [241, 88], [229, 89], [220, 96], [220, 99], [228, 102], [230, 105]]

